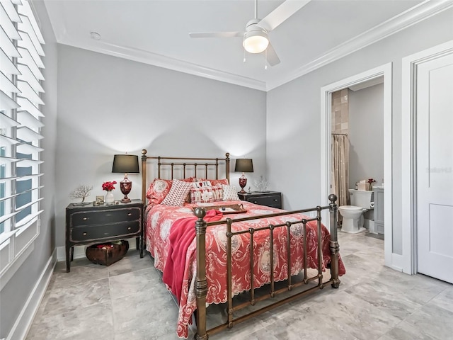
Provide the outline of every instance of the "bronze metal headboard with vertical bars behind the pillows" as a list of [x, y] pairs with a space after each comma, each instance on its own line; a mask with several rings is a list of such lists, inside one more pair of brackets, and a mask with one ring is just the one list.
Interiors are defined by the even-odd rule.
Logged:
[[147, 189], [154, 179], [228, 179], [229, 152], [224, 158], [153, 157], [142, 149], [142, 200], [147, 201]]

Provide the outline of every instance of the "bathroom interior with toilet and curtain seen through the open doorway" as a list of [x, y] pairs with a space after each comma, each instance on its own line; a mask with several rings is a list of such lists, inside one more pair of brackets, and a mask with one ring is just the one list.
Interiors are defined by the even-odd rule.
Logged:
[[[374, 201], [373, 196], [379, 198], [379, 192], [384, 190], [383, 82], [381, 76], [331, 94], [331, 193], [338, 197], [338, 226], [343, 232], [368, 230], [367, 236], [381, 239], [384, 216], [375, 216], [374, 203], [382, 205], [384, 200]], [[357, 189], [360, 192], [356, 193]], [[382, 210], [382, 206], [377, 206], [376, 212]], [[349, 218], [343, 220], [346, 212]]]

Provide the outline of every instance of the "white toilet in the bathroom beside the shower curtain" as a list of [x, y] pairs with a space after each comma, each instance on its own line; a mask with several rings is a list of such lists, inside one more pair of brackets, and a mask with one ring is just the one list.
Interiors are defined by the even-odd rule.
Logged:
[[341, 205], [338, 211], [343, 216], [342, 232], [357, 233], [366, 229], [363, 227], [363, 212], [374, 208], [373, 192], [349, 189], [351, 205]]

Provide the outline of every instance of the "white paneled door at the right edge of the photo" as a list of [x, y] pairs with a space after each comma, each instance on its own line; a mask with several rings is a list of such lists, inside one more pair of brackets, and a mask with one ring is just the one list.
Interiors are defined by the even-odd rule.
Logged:
[[416, 79], [418, 273], [453, 283], [453, 54]]

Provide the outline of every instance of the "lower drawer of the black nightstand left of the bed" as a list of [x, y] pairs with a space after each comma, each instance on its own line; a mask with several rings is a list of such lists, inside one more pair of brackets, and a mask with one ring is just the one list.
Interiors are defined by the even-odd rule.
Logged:
[[140, 227], [140, 221], [74, 227], [71, 229], [69, 239], [71, 242], [87, 242], [91, 240], [98, 242], [103, 239], [127, 237], [130, 234], [137, 234], [140, 231]]

